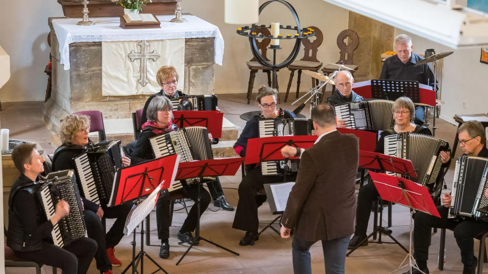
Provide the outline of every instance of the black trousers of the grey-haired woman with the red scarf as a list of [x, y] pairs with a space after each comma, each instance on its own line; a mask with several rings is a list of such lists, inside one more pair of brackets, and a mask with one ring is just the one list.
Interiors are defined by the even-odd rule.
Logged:
[[[185, 198], [190, 198], [195, 203], [198, 200], [198, 188], [200, 187], [200, 216], [202, 216], [203, 212], [208, 207], [210, 203], [210, 194], [208, 191], [203, 188], [202, 184], [195, 184], [192, 185], [188, 189], [180, 190], [180, 193], [183, 194]], [[160, 240], [169, 239], [169, 224], [171, 222], [170, 212], [171, 210], [171, 199], [169, 193], [164, 195], [160, 195], [158, 201], [156, 202], [156, 222], [158, 225], [158, 238]], [[188, 212], [188, 216], [183, 222], [183, 226], [181, 228], [182, 232], [193, 232], [195, 228], [197, 228], [197, 221], [198, 218], [198, 207], [195, 204], [191, 207], [190, 212]]]

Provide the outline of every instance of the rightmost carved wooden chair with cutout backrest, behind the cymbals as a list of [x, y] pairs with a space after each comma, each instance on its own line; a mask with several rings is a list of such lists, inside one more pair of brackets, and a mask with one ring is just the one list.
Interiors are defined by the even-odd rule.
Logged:
[[[344, 42], [346, 38], [351, 39], [351, 42], [349, 44], [346, 44]], [[354, 51], [359, 46], [358, 34], [355, 31], [350, 29], [341, 31], [341, 33], [339, 33], [339, 35], [337, 36], [337, 46], [339, 47], [341, 57], [339, 58], [339, 61], [336, 64], [343, 64], [353, 70], [357, 70], [358, 66], [354, 64], [352, 57], [354, 56]], [[338, 69], [339, 67], [333, 64], [328, 64], [322, 68], [322, 72], [325, 75], [329, 75], [330, 73], [333, 73]], [[350, 72], [354, 76], [354, 71], [350, 71]], [[332, 85], [332, 92], [334, 92], [334, 90], [335, 90], [335, 85]], [[322, 94], [320, 95], [320, 102], [322, 102], [324, 98], [324, 94], [325, 94], [325, 87], [322, 89]]]

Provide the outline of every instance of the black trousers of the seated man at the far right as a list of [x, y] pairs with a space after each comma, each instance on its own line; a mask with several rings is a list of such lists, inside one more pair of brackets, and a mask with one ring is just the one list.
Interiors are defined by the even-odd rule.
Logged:
[[[417, 261], [428, 259], [428, 236], [431, 228], [445, 228], [454, 230], [454, 238], [461, 250], [461, 262], [465, 266], [471, 266], [474, 256], [474, 237], [488, 231], [488, 222], [474, 219], [447, 218], [449, 209], [438, 206], [440, 218], [417, 212], [414, 217], [413, 227], [413, 257]], [[482, 260], [483, 258], [480, 258]]]

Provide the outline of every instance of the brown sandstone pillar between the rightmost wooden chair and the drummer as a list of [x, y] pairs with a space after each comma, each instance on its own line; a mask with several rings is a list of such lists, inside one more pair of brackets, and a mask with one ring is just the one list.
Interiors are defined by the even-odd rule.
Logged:
[[393, 50], [395, 28], [382, 22], [349, 11], [349, 29], [359, 36], [359, 47], [354, 51], [356, 82], [380, 77], [381, 54]]

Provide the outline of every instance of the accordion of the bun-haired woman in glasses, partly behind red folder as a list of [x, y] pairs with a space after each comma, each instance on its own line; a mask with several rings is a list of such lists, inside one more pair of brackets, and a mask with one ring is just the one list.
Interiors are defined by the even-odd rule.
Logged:
[[[259, 137], [272, 136], [300, 136], [313, 135], [312, 119], [306, 118], [275, 118], [259, 120]], [[287, 167], [286, 167], [287, 165]], [[261, 174], [264, 176], [282, 176], [297, 172], [300, 166], [300, 160], [285, 161], [265, 161], [261, 162]]]

